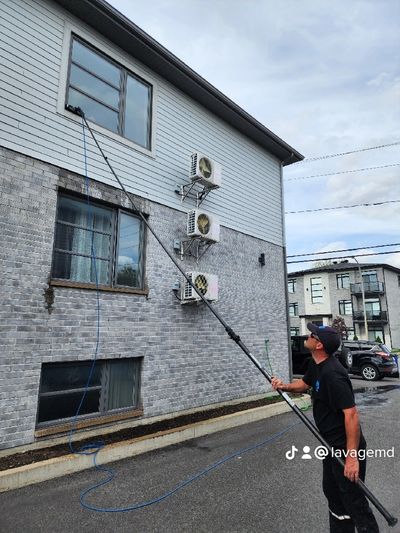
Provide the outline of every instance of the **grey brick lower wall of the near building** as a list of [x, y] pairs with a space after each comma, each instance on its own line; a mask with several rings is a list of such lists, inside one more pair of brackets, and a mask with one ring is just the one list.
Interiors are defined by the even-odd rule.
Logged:
[[[0, 166], [0, 447], [7, 448], [34, 440], [41, 364], [93, 357], [96, 292], [55, 287], [53, 312], [45, 308], [57, 188], [83, 192], [82, 177], [2, 148]], [[94, 198], [128, 206], [117, 189], [92, 181], [90, 190]], [[173, 239], [185, 236], [186, 216], [136, 201], [172, 250]], [[265, 267], [258, 263], [261, 252]], [[181, 264], [218, 274], [216, 309], [261, 361], [269, 338], [272, 367], [288, 379], [283, 260], [282, 248], [223, 227], [221, 242], [199, 265], [194, 259]], [[204, 306], [180, 305], [171, 291], [179, 277], [148, 234], [149, 296], [100, 293], [98, 357], [144, 358], [144, 417], [269, 389]]]

